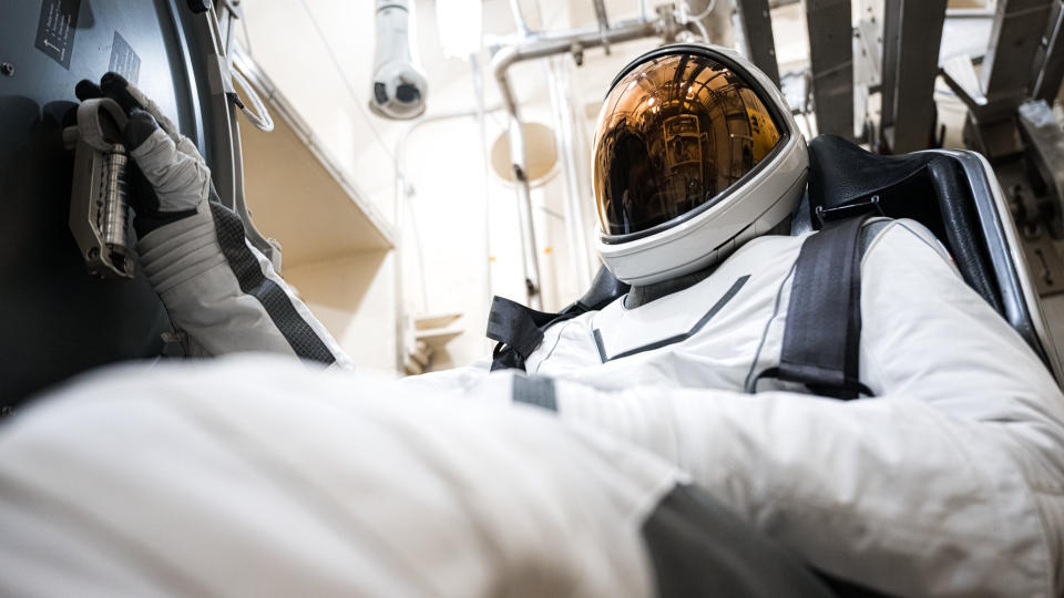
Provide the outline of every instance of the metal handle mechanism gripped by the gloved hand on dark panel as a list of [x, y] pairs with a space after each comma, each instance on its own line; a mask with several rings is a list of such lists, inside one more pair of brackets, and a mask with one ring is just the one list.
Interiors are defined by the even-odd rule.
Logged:
[[89, 271], [103, 278], [133, 278], [129, 235], [129, 156], [117, 141], [126, 116], [113, 100], [78, 109], [78, 126], [63, 132], [74, 151], [70, 230]]

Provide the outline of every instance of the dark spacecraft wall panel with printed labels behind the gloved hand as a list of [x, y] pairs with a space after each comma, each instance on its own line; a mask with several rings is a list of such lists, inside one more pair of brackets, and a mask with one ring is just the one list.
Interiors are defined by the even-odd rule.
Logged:
[[[88, 274], [68, 227], [74, 85], [109, 70], [153, 97], [201, 147], [203, 56], [184, 1], [2, 0], [0, 18], [0, 409], [88, 369], [171, 352], [165, 310], [137, 269]], [[201, 35], [202, 38], [202, 35]], [[198, 75], [198, 76], [197, 76]]]

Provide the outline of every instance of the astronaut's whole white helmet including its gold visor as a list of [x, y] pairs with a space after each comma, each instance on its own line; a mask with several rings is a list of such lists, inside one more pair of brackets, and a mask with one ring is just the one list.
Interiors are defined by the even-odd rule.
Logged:
[[614, 79], [593, 147], [596, 248], [630, 285], [723, 259], [780, 224], [809, 155], [779, 90], [739, 54], [675, 44]]

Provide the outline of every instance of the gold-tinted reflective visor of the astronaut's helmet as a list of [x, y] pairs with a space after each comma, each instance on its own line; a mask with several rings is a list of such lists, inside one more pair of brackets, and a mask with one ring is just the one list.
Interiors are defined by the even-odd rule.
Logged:
[[779, 142], [757, 92], [715, 60], [661, 56], [627, 73], [595, 132], [595, 202], [606, 235], [647, 230], [699, 206]]

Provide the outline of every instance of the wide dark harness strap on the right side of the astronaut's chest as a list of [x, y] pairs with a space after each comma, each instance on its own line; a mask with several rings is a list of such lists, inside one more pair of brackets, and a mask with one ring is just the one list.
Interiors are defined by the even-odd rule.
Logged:
[[861, 227], [869, 215], [831, 221], [801, 246], [790, 287], [779, 368], [759, 378], [801, 382], [825, 396], [871, 394], [859, 378]]

